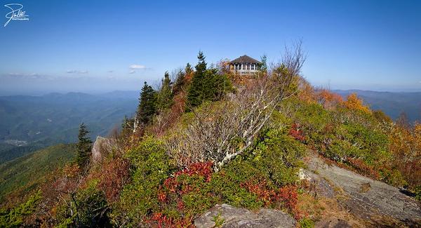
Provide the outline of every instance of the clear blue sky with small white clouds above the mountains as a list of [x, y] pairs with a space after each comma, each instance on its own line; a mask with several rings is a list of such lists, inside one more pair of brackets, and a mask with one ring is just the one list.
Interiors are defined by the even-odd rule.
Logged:
[[[20, 3], [29, 21], [4, 17]], [[0, 95], [139, 90], [199, 50], [269, 62], [302, 39], [332, 89], [421, 90], [421, 1], [4, 1]]]

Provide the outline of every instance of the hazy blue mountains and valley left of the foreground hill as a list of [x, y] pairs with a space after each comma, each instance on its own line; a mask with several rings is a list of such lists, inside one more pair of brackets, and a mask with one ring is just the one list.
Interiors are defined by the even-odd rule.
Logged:
[[[0, 96], [0, 163], [57, 143], [76, 142], [81, 122], [90, 136], [107, 135], [132, 116], [138, 91]], [[25, 141], [16, 147], [8, 141]]]

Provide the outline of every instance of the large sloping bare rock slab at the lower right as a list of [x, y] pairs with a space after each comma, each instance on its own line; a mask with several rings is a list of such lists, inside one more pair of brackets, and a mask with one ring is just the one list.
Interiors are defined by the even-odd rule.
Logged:
[[[398, 188], [338, 166], [328, 165], [313, 154], [303, 176], [314, 181], [319, 194], [335, 189], [340, 204], [373, 226], [421, 227], [420, 202]], [[327, 183], [327, 185], [326, 185]]]

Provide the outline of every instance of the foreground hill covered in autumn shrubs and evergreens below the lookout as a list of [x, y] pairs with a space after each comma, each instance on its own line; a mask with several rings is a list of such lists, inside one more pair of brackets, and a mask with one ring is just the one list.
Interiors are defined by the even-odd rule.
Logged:
[[[314, 88], [300, 74], [304, 63], [296, 43], [281, 62], [267, 67], [262, 61], [259, 75], [244, 82], [227, 62], [208, 65], [199, 52], [197, 64], [187, 64], [174, 81], [166, 73], [157, 90], [145, 82], [133, 119], [123, 119], [119, 133], [95, 145], [92, 155], [90, 126], [81, 126], [75, 159], [29, 199], [1, 210], [1, 224], [195, 227], [222, 203], [282, 212], [296, 227], [332, 218], [368, 227], [420, 224], [421, 125], [394, 123], [356, 94], [343, 99]], [[313, 172], [310, 159], [351, 170], [353, 180], [387, 183], [396, 200], [410, 204], [409, 216], [352, 213], [349, 189], [330, 180], [323, 186], [331, 198], [315, 194], [319, 186], [305, 176]], [[370, 186], [354, 191], [372, 193]], [[219, 213], [212, 222], [229, 221]]]

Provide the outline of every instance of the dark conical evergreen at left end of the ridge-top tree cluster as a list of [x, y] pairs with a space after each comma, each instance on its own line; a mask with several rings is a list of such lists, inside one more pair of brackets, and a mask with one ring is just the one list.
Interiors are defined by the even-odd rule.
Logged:
[[147, 124], [152, 120], [156, 114], [156, 92], [149, 86], [146, 81], [140, 92], [138, 111], [136, 112], [136, 119], [140, 124]]

